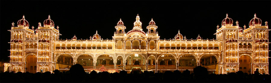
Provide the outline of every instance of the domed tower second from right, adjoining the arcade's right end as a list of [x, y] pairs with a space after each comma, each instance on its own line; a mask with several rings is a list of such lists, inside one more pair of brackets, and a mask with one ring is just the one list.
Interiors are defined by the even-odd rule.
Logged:
[[221, 41], [219, 73], [238, 71], [238, 26], [232, 26], [233, 20], [228, 17], [223, 19], [221, 28], [216, 30], [216, 39]]

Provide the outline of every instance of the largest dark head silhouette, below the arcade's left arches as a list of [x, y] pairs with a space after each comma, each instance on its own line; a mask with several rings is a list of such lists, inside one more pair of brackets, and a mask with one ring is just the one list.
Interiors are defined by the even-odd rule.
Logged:
[[70, 67], [70, 75], [73, 82], [83, 82], [86, 76], [86, 72], [82, 65], [75, 64]]

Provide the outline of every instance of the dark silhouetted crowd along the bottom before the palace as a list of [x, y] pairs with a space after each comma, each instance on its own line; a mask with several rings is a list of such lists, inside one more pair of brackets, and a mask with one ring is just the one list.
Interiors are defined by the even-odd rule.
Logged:
[[139, 73], [133, 71], [127, 74], [126, 71], [108, 73], [92, 71], [86, 73], [80, 64], [73, 65], [69, 71], [60, 72], [54, 70], [51, 72], [2, 72], [0, 73], [0, 82], [268, 82], [270, 75], [260, 74], [258, 69], [255, 74], [243, 73], [242, 71], [231, 72], [229, 74], [208, 74], [205, 67], [197, 66], [191, 73], [189, 70], [180, 72], [166, 71], [164, 73], [154, 73], [153, 71], [144, 71]]

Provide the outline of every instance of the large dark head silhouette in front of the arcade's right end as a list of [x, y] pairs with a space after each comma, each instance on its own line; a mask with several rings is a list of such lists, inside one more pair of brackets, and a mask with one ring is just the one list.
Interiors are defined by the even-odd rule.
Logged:
[[197, 66], [193, 70], [196, 82], [206, 82], [208, 70], [205, 67]]

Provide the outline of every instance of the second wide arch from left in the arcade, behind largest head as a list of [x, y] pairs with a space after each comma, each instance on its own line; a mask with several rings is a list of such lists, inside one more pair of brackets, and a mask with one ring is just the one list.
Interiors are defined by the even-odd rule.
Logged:
[[82, 54], [77, 58], [77, 63], [82, 66], [93, 66], [93, 58], [89, 54]]

